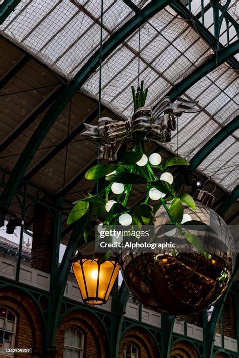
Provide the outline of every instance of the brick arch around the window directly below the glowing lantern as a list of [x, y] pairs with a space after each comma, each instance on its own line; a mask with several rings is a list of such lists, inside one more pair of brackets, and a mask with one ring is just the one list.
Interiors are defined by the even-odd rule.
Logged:
[[62, 321], [56, 335], [54, 358], [63, 357], [64, 332], [71, 326], [84, 333], [84, 358], [109, 358], [105, 331], [97, 317], [85, 310], [73, 311]]

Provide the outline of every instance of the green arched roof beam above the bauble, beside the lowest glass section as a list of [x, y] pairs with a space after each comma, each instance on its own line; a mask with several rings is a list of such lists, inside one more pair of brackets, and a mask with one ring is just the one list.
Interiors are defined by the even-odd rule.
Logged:
[[206, 157], [229, 135], [239, 128], [239, 116], [216, 133], [191, 159], [189, 170], [194, 171], [206, 159]]

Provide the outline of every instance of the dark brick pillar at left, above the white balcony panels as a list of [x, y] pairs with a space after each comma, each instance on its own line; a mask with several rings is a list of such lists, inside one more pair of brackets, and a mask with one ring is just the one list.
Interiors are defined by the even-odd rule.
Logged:
[[31, 267], [50, 273], [54, 240], [54, 222], [52, 215], [42, 204], [36, 204], [34, 210]]

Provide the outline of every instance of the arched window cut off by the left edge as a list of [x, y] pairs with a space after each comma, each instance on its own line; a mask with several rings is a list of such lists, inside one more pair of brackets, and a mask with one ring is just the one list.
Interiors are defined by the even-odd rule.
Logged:
[[6, 307], [0, 307], [0, 350], [14, 348], [16, 316]]

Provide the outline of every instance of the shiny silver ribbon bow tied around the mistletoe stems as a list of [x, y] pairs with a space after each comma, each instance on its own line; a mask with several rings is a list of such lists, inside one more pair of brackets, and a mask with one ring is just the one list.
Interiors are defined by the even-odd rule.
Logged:
[[122, 143], [127, 141], [127, 147], [132, 147], [132, 134], [145, 132], [145, 140], [155, 143], [171, 141], [171, 131], [176, 129], [176, 116], [182, 113], [196, 113], [194, 108], [198, 101], [187, 101], [178, 97], [171, 103], [169, 97], [162, 98], [154, 108], [141, 107], [137, 109], [131, 120], [119, 121], [108, 117], [99, 118], [97, 126], [84, 123], [86, 131], [82, 136], [101, 139], [102, 146], [98, 158], [117, 159], [117, 152]]

